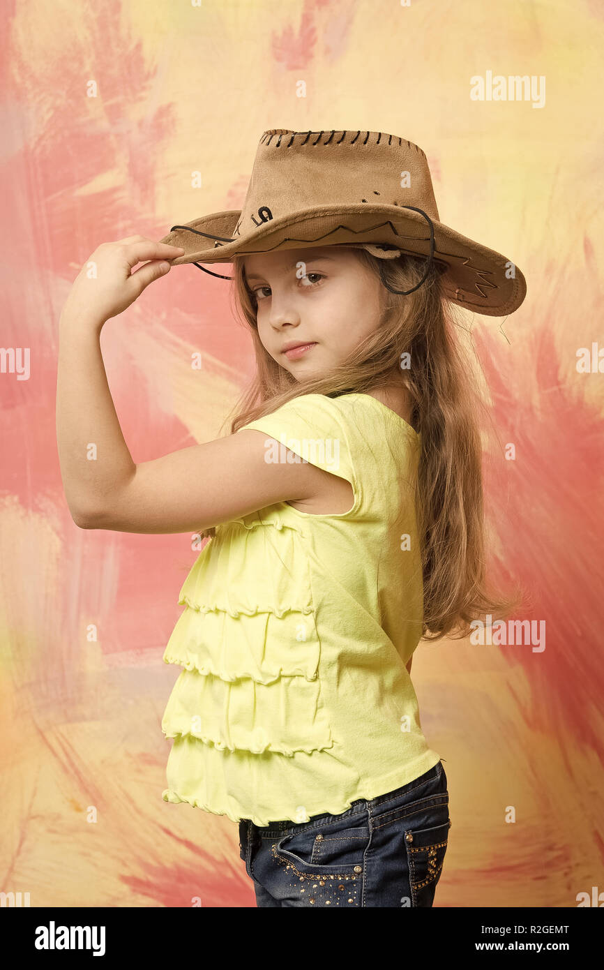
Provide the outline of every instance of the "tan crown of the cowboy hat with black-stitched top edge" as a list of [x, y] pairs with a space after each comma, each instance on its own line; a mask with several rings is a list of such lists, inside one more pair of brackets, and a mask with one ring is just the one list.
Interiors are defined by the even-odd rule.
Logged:
[[384, 132], [271, 128], [261, 136], [233, 238], [298, 212], [361, 204], [416, 206], [438, 220], [422, 148]]

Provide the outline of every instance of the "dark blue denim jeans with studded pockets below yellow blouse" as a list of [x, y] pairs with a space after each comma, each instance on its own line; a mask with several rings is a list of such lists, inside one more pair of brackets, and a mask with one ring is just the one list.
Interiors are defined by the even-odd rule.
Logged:
[[341, 815], [260, 827], [239, 822], [239, 855], [257, 906], [431, 906], [449, 837], [439, 761], [394, 792]]

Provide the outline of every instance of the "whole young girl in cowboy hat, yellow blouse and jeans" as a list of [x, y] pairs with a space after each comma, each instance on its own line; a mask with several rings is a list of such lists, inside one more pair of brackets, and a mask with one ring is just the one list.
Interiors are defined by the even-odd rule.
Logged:
[[[243, 210], [167, 239], [93, 254], [57, 387], [81, 528], [208, 537], [164, 655], [182, 670], [163, 797], [238, 823], [258, 906], [429, 907], [451, 822], [412, 656], [517, 604], [485, 582], [452, 302], [512, 312], [524, 277], [440, 223], [424, 153], [379, 132], [265, 132]], [[198, 261], [232, 264], [257, 375], [230, 435], [135, 465], [99, 334]]]

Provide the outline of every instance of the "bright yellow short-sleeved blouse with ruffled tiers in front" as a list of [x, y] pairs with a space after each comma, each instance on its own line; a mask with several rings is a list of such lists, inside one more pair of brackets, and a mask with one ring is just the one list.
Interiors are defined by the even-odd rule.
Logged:
[[301, 823], [440, 760], [405, 667], [422, 634], [421, 436], [367, 394], [302, 395], [244, 429], [265, 434], [271, 460], [345, 478], [354, 503], [313, 515], [278, 502], [216, 527], [164, 653], [183, 669], [162, 719], [162, 797]]

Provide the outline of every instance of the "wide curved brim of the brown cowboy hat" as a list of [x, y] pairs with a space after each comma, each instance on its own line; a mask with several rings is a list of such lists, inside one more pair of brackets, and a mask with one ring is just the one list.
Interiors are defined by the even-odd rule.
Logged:
[[[240, 215], [240, 210], [213, 212], [184, 223], [187, 228], [174, 229], [160, 242], [185, 250], [173, 266], [230, 263], [235, 256], [350, 242], [389, 242], [404, 253], [429, 256], [426, 219], [420, 212], [397, 206], [320, 206], [271, 219], [245, 237], [215, 244], [215, 237], [233, 238]], [[450, 300], [486, 316], [505, 316], [521, 306], [526, 281], [513, 261], [442, 222], [432, 219], [432, 225], [434, 259], [447, 265], [442, 283]]]

